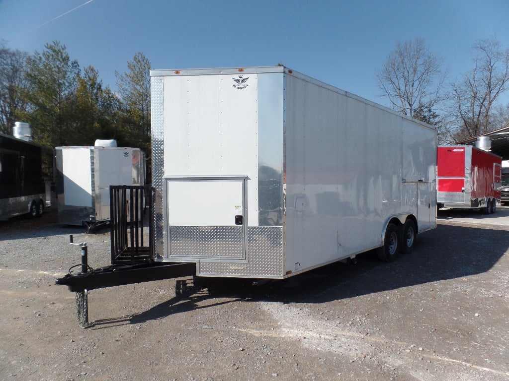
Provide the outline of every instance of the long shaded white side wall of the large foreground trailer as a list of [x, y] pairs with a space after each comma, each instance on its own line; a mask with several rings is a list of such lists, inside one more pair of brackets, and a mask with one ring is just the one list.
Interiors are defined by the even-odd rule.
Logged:
[[380, 246], [391, 216], [435, 226], [435, 131], [298, 76], [286, 89], [286, 271]]

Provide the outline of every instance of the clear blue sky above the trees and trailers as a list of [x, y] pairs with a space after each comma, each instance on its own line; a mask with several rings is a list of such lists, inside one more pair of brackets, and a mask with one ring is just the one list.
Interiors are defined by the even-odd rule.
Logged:
[[472, 68], [471, 46], [509, 46], [508, 0], [0, 0], [0, 39], [32, 53], [59, 40], [116, 89], [141, 51], [153, 69], [272, 66], [387, 105], [376, 86], [395, 43], [423, 38], [449, 81]]

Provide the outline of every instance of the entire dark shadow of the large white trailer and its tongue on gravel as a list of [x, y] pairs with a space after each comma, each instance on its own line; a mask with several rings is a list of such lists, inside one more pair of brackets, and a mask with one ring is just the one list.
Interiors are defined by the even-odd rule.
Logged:
[[[380, 262], [374, 251], [357, 256], [357, 264], [335, 263], [282, 281], [252, 285], [251, 280], [202, 278], [177, 280], [177, 296], [147, 311], [96, 326], [139, 324], [172, 314], [237, 300], [325, 303], [428, 282], [468, 277], [490, 270], [504, 255], [509, 231], [439, 225], [419, 235], [415, 249], [393, 263]], [[201, 305], [214, 298], [213, 303]], [[228, 300], [223, 300], [228, 298]]]

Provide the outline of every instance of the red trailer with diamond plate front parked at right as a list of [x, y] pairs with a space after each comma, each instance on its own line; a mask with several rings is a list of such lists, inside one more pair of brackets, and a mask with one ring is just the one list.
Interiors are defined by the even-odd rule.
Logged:
[[494, 213], [500, 205], [502, 158], [473, 146], [439, 146], [437, 207], [479, 208]]

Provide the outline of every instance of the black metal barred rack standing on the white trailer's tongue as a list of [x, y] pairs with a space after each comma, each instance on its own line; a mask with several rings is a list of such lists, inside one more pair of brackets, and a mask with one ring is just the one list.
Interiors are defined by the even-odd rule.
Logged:
[[112, 265], [153, 261], [153, 196], [149, 185], [109, 187]]

